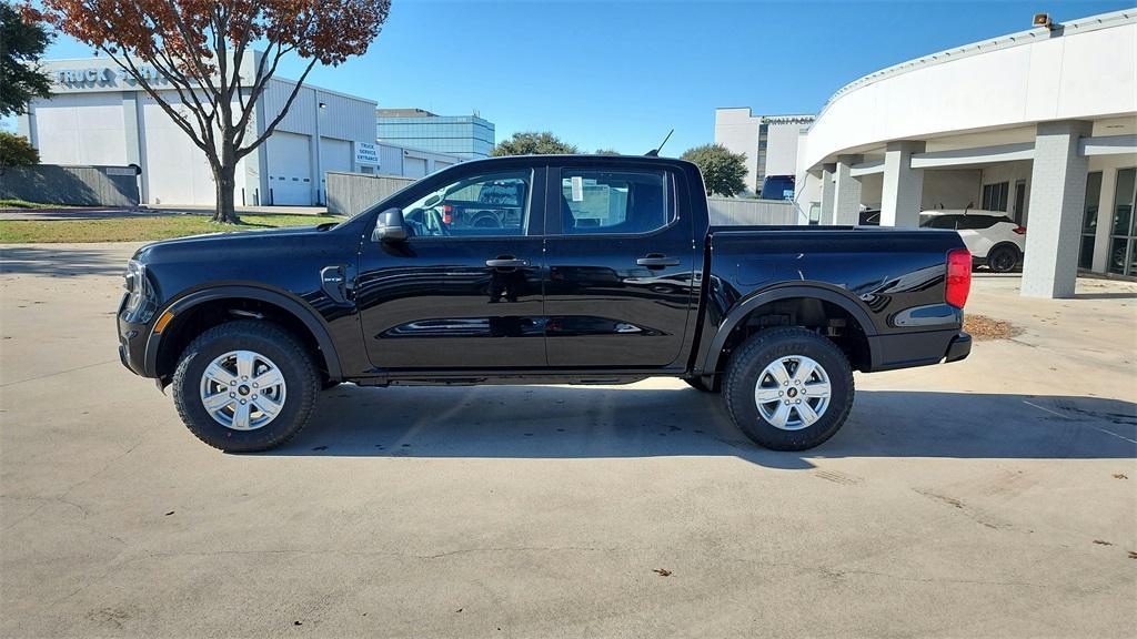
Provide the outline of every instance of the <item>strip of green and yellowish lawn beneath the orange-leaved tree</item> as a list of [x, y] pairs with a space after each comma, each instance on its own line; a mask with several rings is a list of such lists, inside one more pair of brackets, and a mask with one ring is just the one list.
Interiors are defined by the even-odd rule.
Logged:
[[242, 215], [244, 224], [214, 224], [207, 215], [130, 216], [108, 219], [0, 219], [0, 242], [141, 242], [201, 233], [256, 231], [339, 222], [331, 215]]

